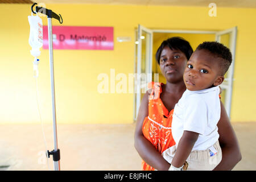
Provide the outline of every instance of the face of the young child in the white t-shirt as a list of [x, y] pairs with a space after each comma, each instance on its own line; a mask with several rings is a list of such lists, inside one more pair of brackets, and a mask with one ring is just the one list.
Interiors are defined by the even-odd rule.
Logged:
[[219, 58], [205, 49], [192, 53], [183, 75], [188, 90], [203, 90], [222, 83], [224, 76], [219, 75], [219, 61], [213, 59]]

